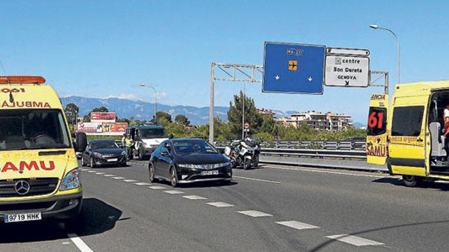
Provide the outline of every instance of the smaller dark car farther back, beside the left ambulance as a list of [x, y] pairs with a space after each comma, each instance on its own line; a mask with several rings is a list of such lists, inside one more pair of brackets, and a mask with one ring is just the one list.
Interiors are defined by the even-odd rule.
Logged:
[[83, 166], [126, 165], [126, 153], [113, 140], [89, 141], [86, 150], [81, 155]]

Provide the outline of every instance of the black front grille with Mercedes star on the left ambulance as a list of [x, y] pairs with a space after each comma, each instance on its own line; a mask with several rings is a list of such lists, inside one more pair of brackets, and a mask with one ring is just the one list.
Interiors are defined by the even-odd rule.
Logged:
[[[30, 184], [30, 190], [26, 194], [19, 194], [15, 186], [19, 181]], [[58, 186], [58, 178], [14, 179], [0, 180], [0, 198], [30, 197], [52, 193]]]

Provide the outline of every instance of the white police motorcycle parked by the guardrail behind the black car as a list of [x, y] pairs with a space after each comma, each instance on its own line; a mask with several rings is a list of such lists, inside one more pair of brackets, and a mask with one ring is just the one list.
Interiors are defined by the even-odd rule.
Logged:
[[[231, 142], [230, 146], [224, 148], [224, 155], [229, 159], [232, 167], [243, 166], [244, 170], [259, 164], [259, 152], [242, 139], [236, 139]], [[255, 153], [257, 153], [256, 156]]]

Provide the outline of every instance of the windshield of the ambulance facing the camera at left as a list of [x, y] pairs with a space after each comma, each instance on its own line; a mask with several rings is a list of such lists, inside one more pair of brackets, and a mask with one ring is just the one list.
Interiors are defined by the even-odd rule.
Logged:
[[0, 151], [70, 148], [59, 109], [0, 110]]

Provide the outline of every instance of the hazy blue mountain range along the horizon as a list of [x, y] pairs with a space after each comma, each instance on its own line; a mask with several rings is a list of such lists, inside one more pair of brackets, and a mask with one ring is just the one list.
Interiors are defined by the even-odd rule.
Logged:
[[[80, 108], [80, 116], [89, 114], [95, 107], [105, 106], [111, 112], [115, 112], [118, 118], [131, 118], [135, 120], [151, 120], [154, 115], [155, 104], [140, 100], [130, 100], [122, 98], [87, 98], [80, 96], [69, 96], [61, 98], [61, 102], [65, 107], [68, 103], [74, 103]], [[215, 116], [223, 121], [228, 121], [229, 107], [215, 106]], [[209, 121], [209, 107], [194, 107], [183, 105], [165, 105], [158, 103], [158, 111], [164, 111], [174, 117], [177, 115], [185, 115], [193, 125], [206, 124]], [[298, 113], [296, 110], [281, 111], [272, 110], [276, 113], [277, 118], [288, 117], [291, 114]], [[357, 124], [357, 125], [356, 125]], [[363, 124], [354, 123], [356, 127]]]

